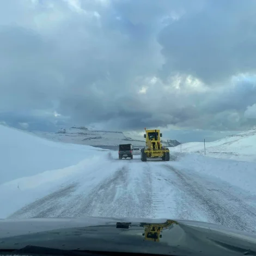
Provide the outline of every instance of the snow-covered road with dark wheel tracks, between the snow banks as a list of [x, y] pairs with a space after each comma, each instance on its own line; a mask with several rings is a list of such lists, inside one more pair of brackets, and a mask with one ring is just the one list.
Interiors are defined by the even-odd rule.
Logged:
[[[93, 181], [95, 172], [99, 181]], [[9, 218], [167, 217], [256, 230], [256, 196], [172, 161], [113, 159], [92, 176], [74, 177]]]

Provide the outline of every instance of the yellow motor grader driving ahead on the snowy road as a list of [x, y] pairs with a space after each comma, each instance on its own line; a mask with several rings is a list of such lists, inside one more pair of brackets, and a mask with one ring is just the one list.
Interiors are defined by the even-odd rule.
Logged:
[[146, 147], [141, 149], [141, 161], [147, 161], [147, 158], [161, 157], [163, 161], [170, 160], [170, 151], [164, 148], [160, 141], [162, 133], [160, 130], [146, 130], [144, 138], [146, 139]]

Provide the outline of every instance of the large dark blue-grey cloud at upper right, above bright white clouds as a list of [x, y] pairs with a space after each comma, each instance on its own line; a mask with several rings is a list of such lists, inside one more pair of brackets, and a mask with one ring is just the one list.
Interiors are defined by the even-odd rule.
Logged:
[[201, 11], [185, 14], [160, 32], [166, 58], [162, 74], [179, 71], [212, 84], [239, 72], [254, 72], [256, 2], [205, 3]]

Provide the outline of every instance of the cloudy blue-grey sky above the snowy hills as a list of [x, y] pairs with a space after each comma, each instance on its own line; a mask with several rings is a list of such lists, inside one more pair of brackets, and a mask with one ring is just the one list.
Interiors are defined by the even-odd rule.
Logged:
[[0, 2], [0, 122], [215, 139], [256, 123], [255, 0]]

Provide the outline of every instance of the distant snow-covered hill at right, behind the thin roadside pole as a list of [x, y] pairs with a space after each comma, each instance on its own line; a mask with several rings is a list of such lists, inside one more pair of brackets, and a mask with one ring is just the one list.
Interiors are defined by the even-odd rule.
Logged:
[[[204, 142], [184, 143], [169, 148], [171, 152], [204, 154]], [[237, 133], [218, 141], [205, 142], [207, 156], [241, 161], [256, 161], [256, 130]]]

